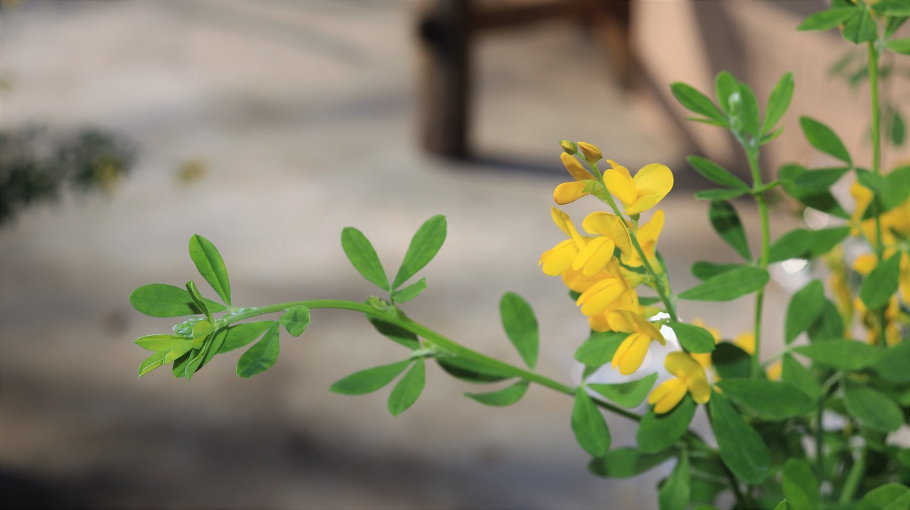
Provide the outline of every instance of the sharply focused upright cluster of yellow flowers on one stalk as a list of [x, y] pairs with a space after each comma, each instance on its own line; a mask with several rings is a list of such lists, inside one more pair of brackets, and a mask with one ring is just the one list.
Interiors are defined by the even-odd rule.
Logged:
[[[566, 205], [593, 195], [610, 205], [612, 213], [587, 215], [579, 230], [568, 214], [552, 207], [553, 223], [567, 239], [541, 255], [541, 269], [545, 275], [561, 276], [576, 296], [576, 305], [588, 318], [591, 330], [626, 334], [612, 357], [612, 367], [622, 375], [631, 375], [642, 366], [653, 342], [666, 344], [661, 324], [652, 321], [660, 310], [642, 304], [636, 289], [646, 285], [662, 300], [668, 297], [666, 270], [657, 255], [663, 211], [655, 210], [641, 225], [639, 219], [670, 192], [673, 175], [670, 168], [657, 163], [645, 165], [632, 175], [610, 159], [606, 160], [610, 168], [601, 172], [598, 147], [567, 140], [560, 145], [562, 164], [574, 180], [556, 186], [556, 204]], [[672, 353], [665, 365], [676, 378], [652, 393], [649, 402], [654, 404], [655, 413], [671, 410], [687, 392], [699, 404], [708, 401], [711, 387], [707, 375], [692, 355]]]

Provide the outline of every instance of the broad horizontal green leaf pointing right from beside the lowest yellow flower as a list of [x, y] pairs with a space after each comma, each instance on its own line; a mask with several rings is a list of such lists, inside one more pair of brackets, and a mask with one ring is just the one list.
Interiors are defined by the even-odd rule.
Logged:
[[723, 379], [717, 383], [734, 402], [752, 409], [766, 420], [784, 420], [814, 410], [814, 401], [796, 386], [760, 379]]

